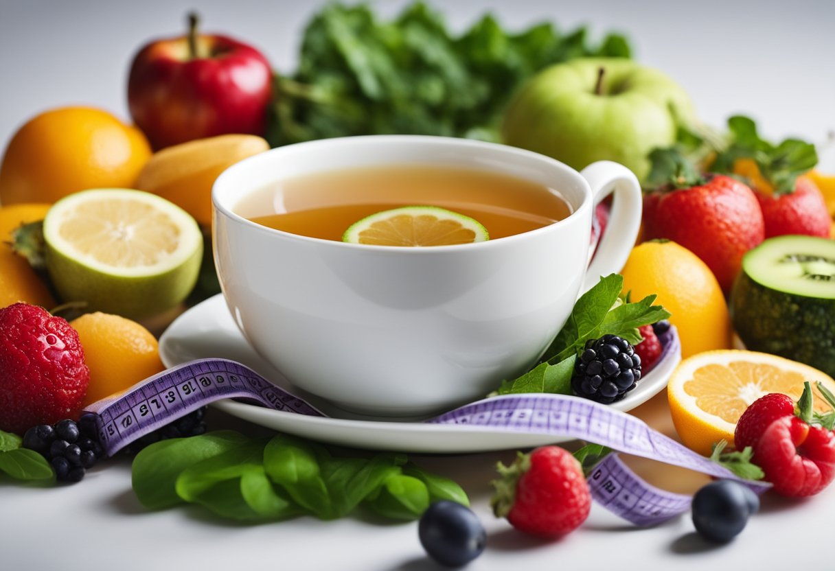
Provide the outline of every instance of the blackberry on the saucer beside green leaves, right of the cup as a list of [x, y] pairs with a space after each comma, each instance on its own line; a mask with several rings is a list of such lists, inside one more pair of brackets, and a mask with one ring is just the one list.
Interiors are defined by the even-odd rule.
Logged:
[[578, 397], [609, 404], [620, 401], [640, 381], [640, 356], [623, 337], [587, 341], [574, 365], [571, 389]]

